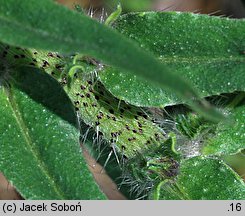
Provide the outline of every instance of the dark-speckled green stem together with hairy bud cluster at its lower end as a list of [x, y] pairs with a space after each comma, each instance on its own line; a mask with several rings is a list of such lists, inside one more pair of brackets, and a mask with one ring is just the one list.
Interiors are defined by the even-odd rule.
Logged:
[[94, 130], [95, 136], [103, 136], [117, 155], [118, 163], [120, 158], [127, 161], [122, 183], [127, 179], [137, 195], [149, 192], [154, 185], [177, 175], [178, 157], [172, 151], [173, 136], [168, 139], [163, 129], [141, 108], [113, 97], [91, 73], [98, 73], [95, 60], [1, 47], [3, 62], [8, 62], [9, 67], [41, 68], [63, 85], [81, 119]]

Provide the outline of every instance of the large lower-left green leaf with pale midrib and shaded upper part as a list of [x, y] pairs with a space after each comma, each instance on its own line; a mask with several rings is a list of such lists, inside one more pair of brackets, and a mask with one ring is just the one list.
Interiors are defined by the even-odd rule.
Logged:
[[[2, 74], [3, 75], [3, 74]], [[104, 199], [82, 158], [74, 108], [31, 67], [0, 86], [0, 170], [26, 199]]]

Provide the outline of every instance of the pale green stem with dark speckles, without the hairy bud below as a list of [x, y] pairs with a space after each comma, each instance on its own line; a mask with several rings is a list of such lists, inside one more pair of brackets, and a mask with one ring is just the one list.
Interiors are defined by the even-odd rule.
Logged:
[[[103, 133], [111, 145], [115, 144], [119, 151], [123, 150], [125, 157], [132, 158], [152, 145], [159, 146], [166, 139], [164, 131], [153, 123], [141, 108], [117, 100], [98, 80], [90, 79], [88, 73], [95, 66], [84, 64], [82, 67], [88, 72], [74, 74], [70, 88], [67, 76], [69, 71], [62, 76], [63, 66], [58, 54], [37, 51], [31, 53], [24, 49], [8, 47], [5, 47], [4, 53], [10, 62], [36, 66], [56, 77], [73, 100], [77, 111], [80, 111], [85, 123]], [[69, 70], [72, 68], [69, 64], [66, 67]]]

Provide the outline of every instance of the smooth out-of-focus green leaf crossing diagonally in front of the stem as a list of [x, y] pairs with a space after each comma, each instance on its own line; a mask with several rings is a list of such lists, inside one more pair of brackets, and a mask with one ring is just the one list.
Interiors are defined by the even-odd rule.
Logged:
[[[0, 24], [0, 40], [5, 43], [68, 54], [83, 52], [186, 100], [198, 97], [182, 78], [126, 37], [50, 0], [0, 0]], [[204, 106], [192, 105], [209, 118], [221, 118]]]

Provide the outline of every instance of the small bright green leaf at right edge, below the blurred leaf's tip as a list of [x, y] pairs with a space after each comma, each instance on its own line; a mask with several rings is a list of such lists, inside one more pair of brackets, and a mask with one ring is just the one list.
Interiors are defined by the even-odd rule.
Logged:
[[245, 149], [245, 106], [232, 110], [230, 118], [220, 122], [215, 136], [206, 142], [203, 154], [229, 155]]

